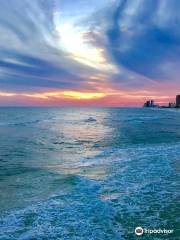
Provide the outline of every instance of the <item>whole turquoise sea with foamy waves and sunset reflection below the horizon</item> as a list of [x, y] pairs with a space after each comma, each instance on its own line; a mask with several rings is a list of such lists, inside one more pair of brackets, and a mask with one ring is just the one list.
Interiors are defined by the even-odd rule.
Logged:
[[180, 236], [180, 111], [0, 108], [0, 239]]

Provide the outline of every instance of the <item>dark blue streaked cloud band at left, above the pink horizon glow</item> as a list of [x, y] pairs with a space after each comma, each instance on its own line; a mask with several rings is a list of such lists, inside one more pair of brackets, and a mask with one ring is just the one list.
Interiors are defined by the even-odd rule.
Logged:
[[10, 83], [13, 76], [12, 84], [65, 88], [75, 85], [75, 81], [78, 85], [77, 82], [82, 80], [47, 60], [14, 52], [5, 60], [0, 60], [0, 68], [7, 72], [6, 83]]

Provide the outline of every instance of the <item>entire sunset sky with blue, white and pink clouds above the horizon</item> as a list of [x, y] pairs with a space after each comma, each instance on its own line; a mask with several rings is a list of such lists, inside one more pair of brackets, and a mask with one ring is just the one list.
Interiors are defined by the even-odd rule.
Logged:
[[0, 106], [175, 101], [179, 12], [179, 0], [0, 0]]

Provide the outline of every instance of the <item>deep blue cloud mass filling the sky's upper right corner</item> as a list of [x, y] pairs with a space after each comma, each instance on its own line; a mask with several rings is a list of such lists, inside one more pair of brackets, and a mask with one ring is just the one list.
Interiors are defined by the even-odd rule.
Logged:
[[107, 49], [115, 63], [148, 78], [166, 80], [162, 61], [179, 58], [179, 7], [177, 1], [120, 1], [106, 31]]

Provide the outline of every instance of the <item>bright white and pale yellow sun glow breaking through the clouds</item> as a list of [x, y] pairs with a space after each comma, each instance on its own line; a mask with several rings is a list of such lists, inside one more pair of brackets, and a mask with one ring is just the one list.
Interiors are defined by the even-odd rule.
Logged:
[[88, 43], [85, 38], [85, 30], [65, 23], [56, 24], [56, 31], [59, 35], [59, 43], [69, 57], [93, 68], [108, 71], [116, 71], [115, 66], [107, 62], [104, 50]]

